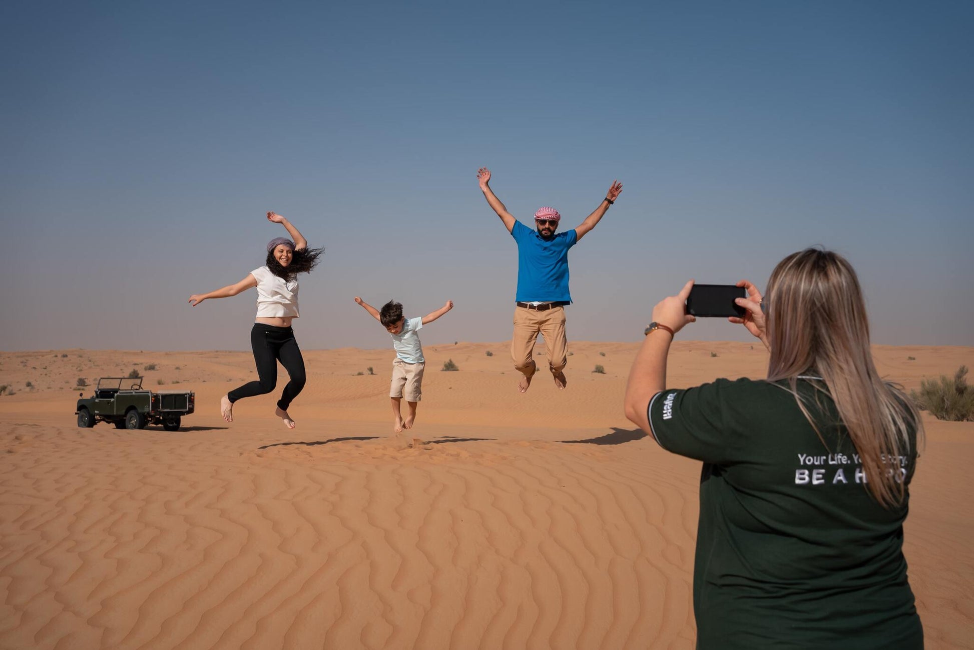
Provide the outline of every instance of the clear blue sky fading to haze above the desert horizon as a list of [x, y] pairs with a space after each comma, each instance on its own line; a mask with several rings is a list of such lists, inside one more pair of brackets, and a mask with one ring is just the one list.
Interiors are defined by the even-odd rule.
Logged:
[[[968, 2], [5, 2], [4, 349], [246, 349], [255, 292], [313, 246], [306, 349], [381, 347], [353, 297], [504, 341], [514, 242], [480, 194], [565, 228], [570, 339], [638, 341], [690, 277], [760, 286], [821, 244], [875, 343], [974, 344]], [[686, 339], [743, 340], [698, 323]]]

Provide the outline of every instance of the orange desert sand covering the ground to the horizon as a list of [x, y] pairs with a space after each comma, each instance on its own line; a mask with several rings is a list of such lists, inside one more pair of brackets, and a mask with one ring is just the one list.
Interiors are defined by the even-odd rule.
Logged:
[[[568, 388], [543, 372], [526, 395], [507, 343], [428, 346], [412, 449], [389, 349], [306, 352], [294, 430], [272, 396], [220, 418], [249, 352], [0, 353], [0, 648], [693, 648], [699, 464], [622, 415], [637, 345], [572, 343]], [[974, 365], [875, 353], [908, 389]], [[670, 384], [767, 360], [678, 342]], [[78, 379], [132, 369], [196, 391], [184, 429], [77, 428]], [[911, 581], [927, 647], [974, 647], [974, 422], [924, 421]]]

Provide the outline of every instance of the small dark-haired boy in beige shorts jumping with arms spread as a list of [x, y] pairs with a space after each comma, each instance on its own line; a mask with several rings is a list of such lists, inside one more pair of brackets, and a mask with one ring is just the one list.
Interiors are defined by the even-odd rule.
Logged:
[[[426, 367], [426, 360], [423, 358], [423, 343], [420, 343], [419, 331], [424, 325], [452, 309], [453, 301], [446, 301], [446, 305], [422, 318], [408, 319], [402, 315], [400, 303], [389, 301], [382, 306], [382, 311], [372, 307], [358, 296], [356, 296], [356, 303], [382, 323], [393, 337], [395, 359], [393, 360], [393, 384], [389, 390], [389, 397], [393, 400], [393, 431], [402, 433], [402, 429], [412, 428], [416, 420], [416, 407], [423, 397], [423, 369]], [[409, 407], [405, 419], [399, 411], [403, 397], [406, 398], [406, 405]]]

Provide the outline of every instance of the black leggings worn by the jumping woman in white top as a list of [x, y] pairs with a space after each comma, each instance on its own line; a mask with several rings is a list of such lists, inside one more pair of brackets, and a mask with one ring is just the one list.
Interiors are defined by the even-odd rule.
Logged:
[[304, 357], [298, 342], [294, 340], [294, 330], [290, 327], [274, 327], [254, 323], [250, 330], [250, 346], [253, 347], [253, 360], [257, 363], [257, 381], [244, 383], [234, 388], [227, 397], [233, 404], [242, 397], [266, 395], [278, 384], [278, 359], [291, 380], [284, 386], [278, 408], [287, 411], [291, 401], [298, 396], [305, 384]]

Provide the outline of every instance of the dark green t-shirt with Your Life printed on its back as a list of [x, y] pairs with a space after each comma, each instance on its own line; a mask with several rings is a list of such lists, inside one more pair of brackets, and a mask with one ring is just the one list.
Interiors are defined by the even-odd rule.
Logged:
[[[718, 379], [650, 402], [656, 442], [704, 463], [697, 648], [922, 648], [907, 503], [870, 496], [832, 400], [807, 380], [799, 392], [822, 439], [786, 382]], [[909, 485], [916, 451], [903, 461]]]

